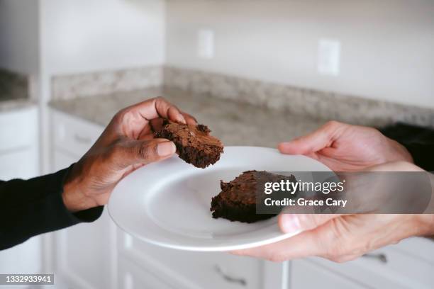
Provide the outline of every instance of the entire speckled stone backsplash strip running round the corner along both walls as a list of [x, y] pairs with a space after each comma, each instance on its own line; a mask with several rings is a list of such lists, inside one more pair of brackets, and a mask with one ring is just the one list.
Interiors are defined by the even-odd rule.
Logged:
[[377, 126], [401, 121], [434, 127], [434, 110], [430, 108], [169, 66], [55, 76], [52, 78], [52, 99], [96, 96], [152, 86], [231, 99], [316, 119]]

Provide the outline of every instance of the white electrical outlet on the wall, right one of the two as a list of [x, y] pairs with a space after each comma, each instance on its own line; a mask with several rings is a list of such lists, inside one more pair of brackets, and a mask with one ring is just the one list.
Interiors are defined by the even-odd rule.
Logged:
[[318, 73], [337, 77], [340, 72], [340, 42], [321, 39], [318, 42]]

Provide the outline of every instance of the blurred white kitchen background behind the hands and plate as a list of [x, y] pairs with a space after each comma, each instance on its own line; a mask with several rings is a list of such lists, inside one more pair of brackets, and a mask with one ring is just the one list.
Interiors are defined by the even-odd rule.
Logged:
[[[160, 95], [225, 145], [327, 120], [434, 128], [434, 1], [0, 0], [0, 179], [69, 166]], [[104, 212], [0, 252], [0, 273], [38, 272], [56, 288], [433, 288], [434, 242], [271, 263], [158, 248]]]

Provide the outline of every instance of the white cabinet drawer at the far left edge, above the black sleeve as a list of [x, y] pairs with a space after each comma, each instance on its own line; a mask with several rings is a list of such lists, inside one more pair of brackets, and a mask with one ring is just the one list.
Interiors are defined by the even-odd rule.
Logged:
[[0, 113], [0, 153], [18, 147], [38, 147], [38, 109]]

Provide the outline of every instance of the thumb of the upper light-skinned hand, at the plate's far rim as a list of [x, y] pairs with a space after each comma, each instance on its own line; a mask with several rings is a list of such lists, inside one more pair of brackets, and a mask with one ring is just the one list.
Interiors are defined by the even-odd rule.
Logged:
[[330, 121], [318, 130], [303, 137], [297, 137], [291, 142], [281, 142], [277, 147], [282, 154], [309, 154], [329, 147], [333, 142], [335, 131], [343, 126], [342, 123]]

